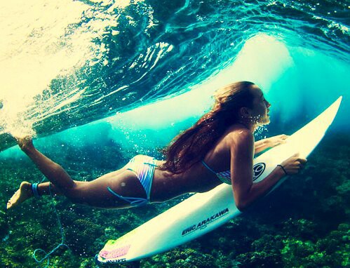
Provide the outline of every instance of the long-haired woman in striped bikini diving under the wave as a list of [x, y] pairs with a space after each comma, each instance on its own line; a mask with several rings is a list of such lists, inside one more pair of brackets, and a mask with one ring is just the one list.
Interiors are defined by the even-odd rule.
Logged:
[[285, 175], [307, 162], [297, 154], [253, 183], [253, 157], [285, 142], [287, 135], [254, 141], [258, 126], [269, 123], [269, 107], [261, 89], [241, 81], [214, 94], [213, 109], [178, 135], [166, 150], [166, 161], [137, 155], [123, 168], [90, 182], [72, 180], [57, 163], [41, 154], [31, 138], [16, 138], [20, 149], [49, 182], [22, 182], [7, 203], [12, 208], [32, 196], [65, 195], [74, 203], [98, 208], [128, 208], [162, 202], [188, 192], [207, 192], [222, 182], [232, 185], [234, 201], [244, 210]]

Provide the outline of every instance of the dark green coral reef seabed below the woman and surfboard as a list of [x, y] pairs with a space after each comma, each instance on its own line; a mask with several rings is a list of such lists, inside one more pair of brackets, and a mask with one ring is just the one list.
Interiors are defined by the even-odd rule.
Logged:
[[[76, 180], [92, 180], [127, 158], [111, 142], [98, 149], [69, 147], [69, 156], [64, 156], [67, 151], [46, 150]], [[96, 152], [106, 156], [98, 158]], [[350, 166], [349, 154], [348, 137], [327, 136], [301, 174], [290, 177], [240, 217], [184, 246], [141, 260], [140, 267], [349, 267], [350, 171], [344, 168]], [[0, 164], [3, 204], [22, 180], [41, 180], [42, 175], [24, 155], [0, 158]], [[63, 196], [54, 201], [46, 196], [13, 210], [2, 209], [0, 267], [35, 267], [32, 253], [36, 248], [49, 252], [60, 243], [52, 202], [70, 250], [61, 247], [51, 255], [50, 267], [95, 267], [93, 257], [108, 239], [126, 234], [178, 201], [102, 210], [72, 204]]]

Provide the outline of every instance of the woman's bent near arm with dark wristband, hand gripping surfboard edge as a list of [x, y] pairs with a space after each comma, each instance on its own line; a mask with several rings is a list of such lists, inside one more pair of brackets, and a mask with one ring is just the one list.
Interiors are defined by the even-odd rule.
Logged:
[[[253, 133], [248, 130], [234, 137], [234, 142], [231, 142], [231, 182], [238, 210], [248, 208], [251, 203], [267, 194], [278, 180], [285, 176], [283, 169], [276, 166], [264, 180], [253, 183], [253, 148]], [[301, 159], [295, 154], [283, 161], [281, 166], [288, 175], [292, 175], [298, 173], [304, 163], [306, 159]]]

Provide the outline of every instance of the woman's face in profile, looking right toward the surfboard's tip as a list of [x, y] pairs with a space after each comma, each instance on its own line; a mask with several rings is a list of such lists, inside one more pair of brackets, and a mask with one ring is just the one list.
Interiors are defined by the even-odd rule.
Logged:
[[258, 124], [265, 125], [270, 123], [269, 107], [271, 105], [265, 100], [264, 93], [262, 93], [262, 90], [256, 85], [253, 85], [250, 90], [254, 96], [253, 108], [248, 109], [250, 119]]

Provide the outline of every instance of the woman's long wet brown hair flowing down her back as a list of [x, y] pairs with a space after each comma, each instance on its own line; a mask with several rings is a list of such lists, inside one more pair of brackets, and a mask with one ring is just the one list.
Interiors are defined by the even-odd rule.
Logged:
[[230, 83], [215, 91], [215, 104], [210, 112], [204, 114], [191, 128], [177, 135], [166, 153], [166, 163], [161, 170], [182, 173], [195, 163], [203, 160], [217, 140], [229, 126], [238, 122], [241, 107], [252, 108], [252, 82]]

